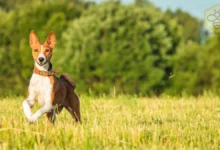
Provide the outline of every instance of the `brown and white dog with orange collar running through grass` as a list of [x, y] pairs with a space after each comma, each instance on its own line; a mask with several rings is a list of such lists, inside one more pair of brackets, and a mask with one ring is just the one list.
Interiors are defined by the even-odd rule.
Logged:
[[[68, 74], [57, 78], [56, 70], [52, 71], [50, 59], [56, 43], [55, 34], [49, 33], [46, 41], [40, 43], [35, 32], [31, 31], [29, 42], [35, 64], [28, 98], [22, 103], [28, 121], [33, 123], [46, 113], [48, 120], [54, 123], [57, 114], [65, 107], [76, 122], [80, 122], [80, 102], [74, 92], [75, 83]], [[36, 100], [42, 107], [32, 114], [31, 108]]]

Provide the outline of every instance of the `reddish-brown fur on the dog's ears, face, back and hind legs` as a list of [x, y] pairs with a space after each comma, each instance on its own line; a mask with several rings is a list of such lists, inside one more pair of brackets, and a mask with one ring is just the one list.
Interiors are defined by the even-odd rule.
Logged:
[[[45, 57], [47, 60], [50, 60], [55, 44], [56, 37], [53, 32], [49, 33], [44, 43], [40, 43], [38, 41], [37, 35], [34, 31], [30, 32], [30, 46], [32, 48], [32, 56], [34, 60], [38, 58], [41, 46], [43, 46], [43, 53]], [[50, 82], [53, 85], [53, 90], [51, 92], [51, 104], [53, 106], [57, 106], [53, 112], [47, 113], [48, 121], [53, 123], [55, 121], [53, 115], [59, 114], [63, 107], [65, 107], [72, 117], [77, 122], [80, 122], [80, 101], [74, 92], [76, 85], [70, 75], [62, 74], [60, 78], [57, 78], [56, 76], [48, 76], [48, 78], [50, 78]]]

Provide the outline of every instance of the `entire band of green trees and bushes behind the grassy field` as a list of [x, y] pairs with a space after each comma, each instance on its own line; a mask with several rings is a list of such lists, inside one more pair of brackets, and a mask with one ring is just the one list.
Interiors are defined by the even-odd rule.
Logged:
[[80, 93], [218, 92], [219, 36], [199, 44], [200, 21], [181, 10], [78, 0], [0, 0], [0, 95], [25, 94], [33, 69], [29, 32], [54, 31], [54, 68]]

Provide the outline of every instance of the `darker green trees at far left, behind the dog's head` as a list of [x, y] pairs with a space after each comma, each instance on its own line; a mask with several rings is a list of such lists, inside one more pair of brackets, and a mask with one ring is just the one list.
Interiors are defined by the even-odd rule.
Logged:
[[44, 42], [46, 35], [54, 31], [59, 41], [68, 22], [79, 17], [83, 9], [84, 4], [61, 0], [24, 3], [9, 13], [0, 12], [4, 18], [0, 22], [0, 93], [24, 92], [28, 85], [33, 68], [29, 32], [35, 30], [39, 40]]

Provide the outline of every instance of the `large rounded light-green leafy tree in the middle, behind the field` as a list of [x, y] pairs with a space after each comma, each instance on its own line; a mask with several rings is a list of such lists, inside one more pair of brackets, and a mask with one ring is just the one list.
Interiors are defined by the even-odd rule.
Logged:
[[160, 93], [180, 42], [177, 22], [153, 6], [104, 3], [70, 24], [54, 56], [80, 91]]

